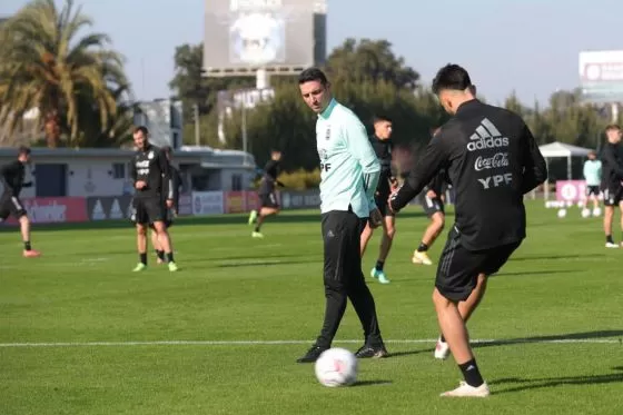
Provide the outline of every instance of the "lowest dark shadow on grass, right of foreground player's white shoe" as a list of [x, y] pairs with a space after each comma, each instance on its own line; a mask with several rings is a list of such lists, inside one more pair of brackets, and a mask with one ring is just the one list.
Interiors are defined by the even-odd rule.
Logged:
[[[623, 367], [613, 367], [613, 370], [621, 372]], [[495, 391], [495, 394], [506, 394], [512, 392], [522, 392], [531, 389], [541, 389], [547, 387], [565, 386], [565, 385], [600, 385], [611, 383], [623, 383], [623, 373], [611, 373], [604, 375], [578, 375], [578, 376], [561, 376], [561, 377], [542, 377], [542, 378], [521, 378], [507, 377], [492, 382], [492, 385], [500, 384], [521, 384], [506, 389]]]

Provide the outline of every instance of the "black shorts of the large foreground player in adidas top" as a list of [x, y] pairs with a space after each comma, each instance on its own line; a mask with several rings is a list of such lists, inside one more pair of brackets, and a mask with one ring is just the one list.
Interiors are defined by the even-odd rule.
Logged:
[[461, 244], [461, 234], [453, 226], [439, 258], [435, 287], [451, 300], [467, 299], [476, 287], [478, 275], [497, 273], [521, 244], [520, 240], [490, 249], [468, 250]]

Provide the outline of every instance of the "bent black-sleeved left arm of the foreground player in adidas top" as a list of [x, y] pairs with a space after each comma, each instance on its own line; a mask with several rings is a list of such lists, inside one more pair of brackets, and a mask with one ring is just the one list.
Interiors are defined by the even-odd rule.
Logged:
[[431, 184], [433, 178], [446, 165], [448, 156], [442, 138], [443, 135], [439, 134], [428, 142], [421, 161], [411, 170], [398, 191], [392, 196], [389, 207], [393, 211], [399, 211], [414, 197], [419, 195], [424, 186]]

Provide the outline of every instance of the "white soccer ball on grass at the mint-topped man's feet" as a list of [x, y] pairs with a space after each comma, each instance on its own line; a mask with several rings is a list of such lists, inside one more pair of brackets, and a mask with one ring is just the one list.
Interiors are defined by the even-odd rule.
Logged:
[[328, 387], [349, 386], [357, 379], [357, 357], [345, 348], [333, 347], [316, 360], [316, 378]]

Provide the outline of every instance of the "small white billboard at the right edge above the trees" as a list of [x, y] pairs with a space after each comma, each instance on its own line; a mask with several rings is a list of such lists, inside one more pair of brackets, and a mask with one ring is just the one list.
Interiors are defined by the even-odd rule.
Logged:
[[623, 50], [580, 52], [580, 86], [586, 102], [623, 102]]

